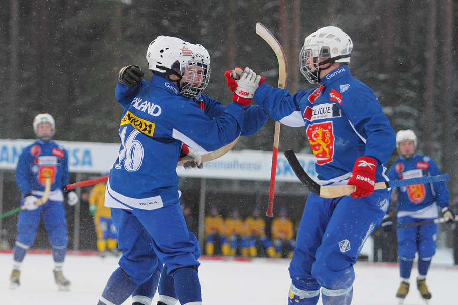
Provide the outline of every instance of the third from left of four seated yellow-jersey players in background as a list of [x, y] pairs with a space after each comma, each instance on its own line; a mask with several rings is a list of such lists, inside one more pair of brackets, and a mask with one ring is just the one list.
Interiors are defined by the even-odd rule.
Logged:
[[253, 213], [245, 219], [245, 225], [248, 228], [249, 233], [249, 251], [250, 256], [257, 256], [257, 249], [263, 248], [267, 256], [275, 257], [275, 249], [272, 246], [272, 242], [266, 236], [266, 222], [261, 215], [261, 209], [259, 205], [253, 208]]

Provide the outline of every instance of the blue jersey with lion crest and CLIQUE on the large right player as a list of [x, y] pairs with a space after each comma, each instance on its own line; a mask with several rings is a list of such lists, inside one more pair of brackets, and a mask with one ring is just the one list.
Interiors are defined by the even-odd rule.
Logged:
[[306, 128], [321, 184], [346, 184], [361, 156], [377, 161], [376, 181], [387, 181], [386, 161], [395, 147], [395, 133], [373, 90], [352, 77], [346, 65], [322, 81], [293, 95], [263, 83], [254, 100], [272, 119]]

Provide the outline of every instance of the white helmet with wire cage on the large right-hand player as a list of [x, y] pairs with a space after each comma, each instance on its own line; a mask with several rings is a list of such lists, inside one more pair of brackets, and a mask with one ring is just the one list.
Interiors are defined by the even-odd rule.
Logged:
[[[340, 28], [335, 26], [320, 28], [305, 38], [299, 54], [301, 73], [311, 84], [321, 84], [320, 69], [327, 69], [333, 63], [349, 65], [352, 49], [350, 36]], [[329, 66], [318, 68], [327, 63]]]

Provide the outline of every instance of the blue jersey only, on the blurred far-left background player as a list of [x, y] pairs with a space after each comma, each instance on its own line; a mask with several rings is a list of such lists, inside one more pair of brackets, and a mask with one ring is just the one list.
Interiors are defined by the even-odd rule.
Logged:
[[63, 201], [63, 186], [69, 183], [68, 153], [59, 144], [37, 139], [22, 150], [16, 167], [16, 184], [22, 195], [43, 196], [46, 177], [51, 177], [49, 200]]

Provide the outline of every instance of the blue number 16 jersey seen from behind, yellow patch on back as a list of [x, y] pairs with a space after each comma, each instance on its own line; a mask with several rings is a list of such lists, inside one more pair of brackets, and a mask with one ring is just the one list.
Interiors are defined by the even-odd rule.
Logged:
[[157, 75], [135, 90], [118, 83], [116, 98], [124, 112], [119, 156], [107, 183], [108, 207], [152, 210], [176, 202], [182, 144], [204, 152], [219, 149], [239, 136], [245, 114], [232, 103], [211, 119]]

